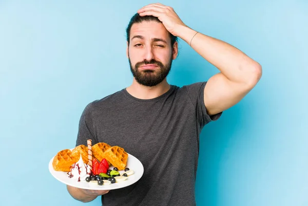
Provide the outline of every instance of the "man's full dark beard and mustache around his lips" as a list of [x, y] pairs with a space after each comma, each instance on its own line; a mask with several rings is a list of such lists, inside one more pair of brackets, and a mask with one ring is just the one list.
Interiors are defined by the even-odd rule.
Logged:
[[[172, 59], [170, 59], [170, 61], [165, 65], [153, 59], [150, 61], [144, 60], [142, 62], [138, 62], [134, 66], [131, 65], [130, 58], [128, 58], [128, 61], [129, 61], [130, 71], [133, 77], [136, 79], [136, 81], [141, 85], [149, 87], [156, 86], [159, 83], [161, 83], [168, 76], [172, 64]], [[140, 71], [138, 68], [144, 64], [155, 64], [159, 67], [159, 69], [158, 70], [147, 69]]]

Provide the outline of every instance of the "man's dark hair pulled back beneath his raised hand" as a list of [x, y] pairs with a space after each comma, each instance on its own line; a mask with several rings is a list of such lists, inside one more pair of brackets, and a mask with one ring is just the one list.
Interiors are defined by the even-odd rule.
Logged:
[[[131, 29], [131, 26], [133, 24], [136, 24], [136, 23], [142, 23], [142, 22], [150, 22], [150, 21], [153, 21], [153, 22], [158, 22], [158, 23], [162, 23], [158, 17], [156, 16], [140, 16], [139, 13], [136, 13], [134, 14], [131, 19], [130, 19], [130, 22], [126, 28], [126, 40], [129, 44], [129, 37], [130, 37], [130, 29]], [[171, 46], [174, 45], [174, 43], [178, 40], [178, 37], [177, 36], [174, 36], [173, 34], [171, 34], [170, 32], [169, 33], [169, 36], [170, 36], [170, 40], [171, 40]]]

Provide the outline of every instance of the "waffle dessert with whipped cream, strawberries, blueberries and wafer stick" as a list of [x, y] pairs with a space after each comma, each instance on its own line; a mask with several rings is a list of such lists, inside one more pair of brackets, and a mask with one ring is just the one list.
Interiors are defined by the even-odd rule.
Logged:
[[[124, 181], [134, 174], [126, 167], [128, 154], [120, 146], [99, 142], [92, 146], [79, 145], [58, 152], [52, 161], [53, 170], [66, 172], [68, 178], [87, 181], [98, 185]], [[113, 166], [112, 170], [109, 169]], [[122, 171], [120, 174], [120, 171]]]

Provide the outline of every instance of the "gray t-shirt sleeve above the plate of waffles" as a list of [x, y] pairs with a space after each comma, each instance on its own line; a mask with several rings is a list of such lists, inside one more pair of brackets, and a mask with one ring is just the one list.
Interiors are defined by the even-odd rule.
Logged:
[[78, 128], [78, 135], [76, 139], [76, 146], [78, 145], [88, 145], [87, 140], [92, 140], [92, 145], [97, 143], [97, 139], [95, 138], [94, 127], [91, 117], [91, 103], [88, 104], [79, 120], [79, 128]]

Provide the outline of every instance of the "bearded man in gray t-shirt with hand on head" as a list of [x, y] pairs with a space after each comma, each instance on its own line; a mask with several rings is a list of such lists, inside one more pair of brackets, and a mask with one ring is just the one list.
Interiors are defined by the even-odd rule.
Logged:
[[[220, 72], [182, 88], [169, 85], [176, 37]], [[127, 57], [132, 84], [86, 106], [76, 145], [92, 139], [121, 146], [143, 163], [144, 175], [118, 190], [67, 189], [83, 202], [102, 195], [103, 205], [195, 205], [201, 129], [253, 89], [261, 66], [237, 48], [192, 30], [162, 4], [147, 5], [132, 17]]]

